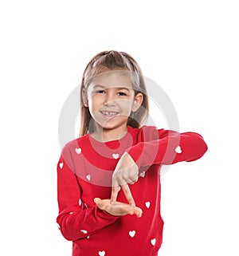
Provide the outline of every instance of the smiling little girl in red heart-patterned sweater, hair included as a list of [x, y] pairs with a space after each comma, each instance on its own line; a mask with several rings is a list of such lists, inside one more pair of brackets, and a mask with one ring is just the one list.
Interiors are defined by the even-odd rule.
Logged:
[[59, 215], [73, 256], [156, 256], [162, 244], [160, 168], [198, 160], [202, 136], [143, 125], [143, 74], [127, 53], [89, 61], [81, 89], [80, 137], [57, 163]]

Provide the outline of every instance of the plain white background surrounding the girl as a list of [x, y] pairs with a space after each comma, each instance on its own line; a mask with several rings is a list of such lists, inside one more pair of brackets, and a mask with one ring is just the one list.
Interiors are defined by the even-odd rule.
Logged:
[[135, 57], [180, 131], [209, 146], [162, 176], [159, 255], [239, 254], [238, 13], [237, 1], [1, 2], [1, 255], [72, 254], [55, 223], [58, 119], [108, 49]]

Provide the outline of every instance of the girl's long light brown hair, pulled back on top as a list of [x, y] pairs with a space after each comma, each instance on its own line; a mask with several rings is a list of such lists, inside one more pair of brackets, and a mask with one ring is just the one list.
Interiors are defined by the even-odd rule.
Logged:
[[88, 110], [88, 107], [84, 106], [83, 89], [87, 89], [88, 84], [92, 81], [92, 78], [96, 75], [106, 73], [115, 70], [125, 70], [129, 73], [135, 95], [137, 93], [143, 94], [143, 102], [141, 107], [127, 119], [127, 125], [132, 128], [139, 128], [143, 124], [144, 120], [148, 118], [148, 96], [146, 91], [145, 82], [143, 80], [143, 74], [138, 63], [133, 57], [127, 53], [117, 52], [114, 50], [104, 51], [96, 54], [92, 57], [91, 61], [84, 69], [82, 81], [80, 85], [80, 136], [94, 132], [93, 125], [90, 125], [92, 116]]

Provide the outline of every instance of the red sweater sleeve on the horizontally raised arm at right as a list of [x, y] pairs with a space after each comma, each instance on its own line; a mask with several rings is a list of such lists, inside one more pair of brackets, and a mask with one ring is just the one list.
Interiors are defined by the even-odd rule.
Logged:
[[[144, 132], [151, 128], [143, 129]], [[171, 130], [157, 129], [155, 140], [142, 141], [128, 148], [127, 152], [138, 165], [151, 166], [152, 164], [172, 164], [182, 161], [198, 160], [207, 151], [207, 145], [196, 132], [174, 132]], [[144, 136], [147, 138], [147, 135]]]

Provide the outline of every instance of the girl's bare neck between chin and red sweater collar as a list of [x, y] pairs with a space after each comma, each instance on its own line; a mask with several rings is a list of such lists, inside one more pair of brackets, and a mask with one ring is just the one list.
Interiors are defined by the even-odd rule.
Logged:
[[103, 129], [96, 128], [95, 132], [92, 132], [91, 136], [93, 139], [100, 142], [108, 142], [111, 140], [120, 140], [127, 134], [127, 125], [125, 127]]

